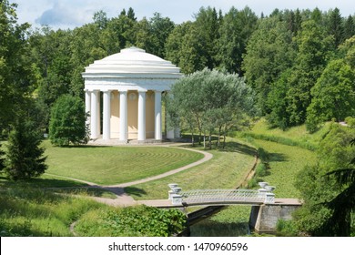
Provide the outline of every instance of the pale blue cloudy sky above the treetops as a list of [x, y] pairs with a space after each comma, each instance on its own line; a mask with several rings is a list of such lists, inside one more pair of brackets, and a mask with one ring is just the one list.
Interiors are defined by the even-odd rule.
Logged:
[[132, 7], [137, 19], [150, 18], [154, 13], [169, 17], [176, 24], [194, 20], [201, 6], [216, 7], [227, 13], [230, 7], [238, 10], [249, 6], [256, 14], [269, 15], [279, 10], [314, 9], [329, 11], [338, 7], [343, 16], [355, 15], [354, 0], [9, 0], [16, 3], [20, 24], [28, 22], [33, 27], [47, 25], [54, 29], [75, 28], [92, 22], [93, 15], [103, 10], [107, 17], [120, 14], [122, 9]]

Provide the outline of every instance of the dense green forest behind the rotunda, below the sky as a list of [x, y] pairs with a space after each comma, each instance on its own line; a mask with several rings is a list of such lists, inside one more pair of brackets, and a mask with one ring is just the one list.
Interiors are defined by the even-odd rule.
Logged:
[[355, 115], [355, 19], [338, 8], [258, 16], [248, 6], [228, 13], [208, 6], [182, 24], [158, 13], [137, 20], [132, 8], [112, 18], [98, 10], [92, 23], [56, 31], [17, 24], [15, 8], [1, 2], [5, 131], [24, 108], [47, 129], [58, 97], [84, 97], [84, 67], [127, 46], [170, 60], [185, 75], [207, 67], [244, 77], [270, 127], [306, 123], [312, 132], [324, 121]]

